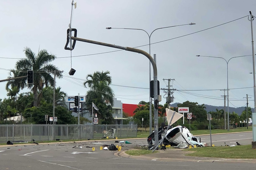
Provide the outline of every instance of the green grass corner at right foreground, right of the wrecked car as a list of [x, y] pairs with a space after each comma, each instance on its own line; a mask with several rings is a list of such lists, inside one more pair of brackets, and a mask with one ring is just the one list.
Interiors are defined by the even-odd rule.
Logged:
[[214, 157], [214, 158], [238, 158], [238, 159], [256, 159], [256, 150], [252, 149], [252, 145], [240, 145], [235, 147], [230, 146], [215, 146], [193, 148], [186, 156], [199, 157]]

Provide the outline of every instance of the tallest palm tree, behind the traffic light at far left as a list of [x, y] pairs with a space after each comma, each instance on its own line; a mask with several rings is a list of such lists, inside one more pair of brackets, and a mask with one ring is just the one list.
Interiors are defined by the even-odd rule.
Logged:
[[20, 89], [23, 89], [25, 86], [30, 88], [34, 94], [34, 106], [37, 107], [40, 99], [38, 98], [38, 92], [42, 92], [44, 85], [46, 87], [53, 86], [53, 77], [48, 71], [57, 70], [56, 76], [61, 78], [61, 72], [58, 71], [58, 68], [49, 62], [56, 59], [56, 56], [49, 54], [47, 50], [42, 49], [36, 55], [30, 48], [24, 48], [24, 53], [26, 58], [20, 59], [16, 62], [15, 68], [19, 72], [18, 76], [26, 75], [27, 70], [31, 70], [33, 67], [34, 70], [34, 84], [26, 84], [25, 79], [21, 79]]

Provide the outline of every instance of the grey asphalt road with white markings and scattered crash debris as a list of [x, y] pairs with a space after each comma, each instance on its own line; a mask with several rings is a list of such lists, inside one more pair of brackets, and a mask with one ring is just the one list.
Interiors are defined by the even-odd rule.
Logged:
[[[244, 135], [244, 136], [242, 136]], [[240, 143], [246, 144], [243, 138], [249, 138], [251, 132], [227, 134], [226, 143], [239, 140]], [[225, 135], [213, 135], [214, 143], [221, 145], [221, 140]], [[208, 140], [208, 136], [202, 136], [204, 140]], [[144, 147], [146, 140], [128, 140], [132, 144], [122, 144], [122, 150], [129, 149], [134, 146]], [[27, 145], [27, 146], [11, 146], [7, 145], [0, 148], [0, 169], [19, 169], [19, 170], [130, 170], [130, 169], [171, 169], [178, 168], [180, 170], [197, 169], [208, 170], [216, 169], [253, 169], [254, 163], [224, 163], [224, 162], [193, 162], [186, 160], [170, 160], [157, 161], [136, 160], [131, 158], [117, 157], [114, 155], [116, 151], [100, 150], [100, 146], [105, 144], [118, 144], [114, 141], [87, 142], [87, 143], [58, 143], [45, 145]], [[249, 142], [247, 144], [250, 144]], [[82, 146], [82, 148], [78, 147]], [[75, 147], [75, 148], [73, 148]], [[91, 147], [95, 147], [93, 151]]]

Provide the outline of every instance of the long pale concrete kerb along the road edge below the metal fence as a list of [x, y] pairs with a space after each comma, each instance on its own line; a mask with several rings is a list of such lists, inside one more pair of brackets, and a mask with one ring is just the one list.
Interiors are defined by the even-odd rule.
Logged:
[[[116, 140], [140, 140], [140, 139], [147, 139], [146, 137], [141, 138], [127, 138], [127, 139], [106, 139], [106, 140], [78, 140], [78, 141], [67, 141], [67, 142], [48, 142], [48, 143], [38, 143], [39, 145], [50, 145], [50, 144], [66, 144], [66, 143], [87, 143], [87, 142], [102, 142], [102, 141], [116, 141]], [[11, 146], [28, 146], [28, 145], [37, 145], [35, 143], [23, 143], [23, 144], [13, 144], [13, 145], [0, 145], [0, 148], [4, 147], [11, 147]]]

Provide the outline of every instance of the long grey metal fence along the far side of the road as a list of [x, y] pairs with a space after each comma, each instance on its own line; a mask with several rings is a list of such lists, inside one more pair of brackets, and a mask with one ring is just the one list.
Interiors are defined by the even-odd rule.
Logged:
[[[112, 133], [113, 132], [113, 133]], [[15, 141], [47, 141], [72, 139], [101, 139], [101, 138], [137, 137], [137, 125], [85, 125], [85, 124], [4, 124], [0, 125], [0, 142]]]

